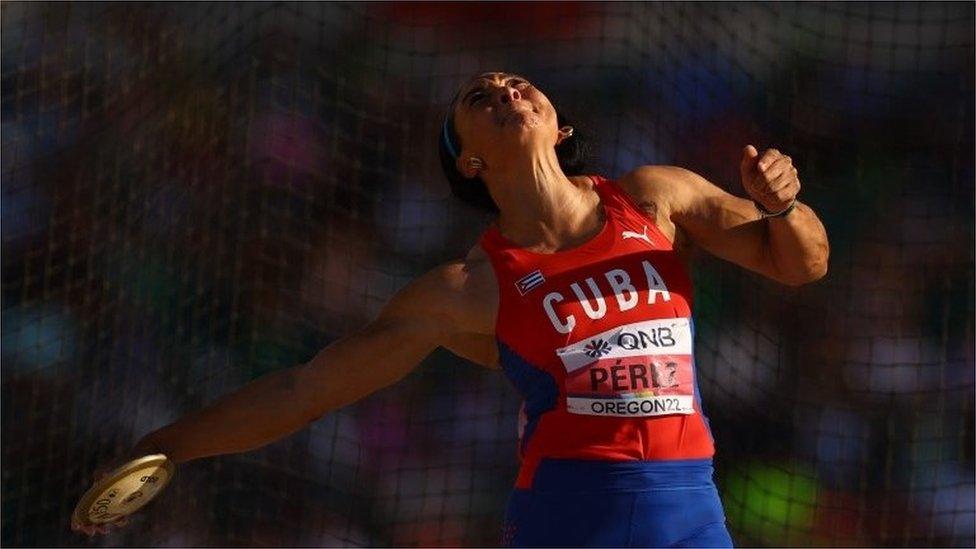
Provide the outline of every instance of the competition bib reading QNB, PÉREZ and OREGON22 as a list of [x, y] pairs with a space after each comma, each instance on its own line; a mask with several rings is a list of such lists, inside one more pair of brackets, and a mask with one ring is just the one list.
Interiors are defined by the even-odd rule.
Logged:
[[570, 413], [648, 417], [692, 414], [691, 321], [618, 326], [556, 349], [566, 368]]

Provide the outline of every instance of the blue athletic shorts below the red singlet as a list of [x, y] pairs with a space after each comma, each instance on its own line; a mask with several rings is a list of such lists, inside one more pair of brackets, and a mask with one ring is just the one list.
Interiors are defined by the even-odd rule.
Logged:
[[508, 502], [507, 547], [732, 547], [712, 460], [543, 460]]

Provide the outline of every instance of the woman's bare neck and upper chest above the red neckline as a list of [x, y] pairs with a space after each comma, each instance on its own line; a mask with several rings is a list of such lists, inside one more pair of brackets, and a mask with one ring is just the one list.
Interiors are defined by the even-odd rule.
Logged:
[[567, 177], [555, 152], [509, 164], [505, 171], [490, 174], [486, 183], [501, 212], [498, 229], [521, 246], [553, 251], [572, 247], [602, 227], [598, 198], [588, 181]]

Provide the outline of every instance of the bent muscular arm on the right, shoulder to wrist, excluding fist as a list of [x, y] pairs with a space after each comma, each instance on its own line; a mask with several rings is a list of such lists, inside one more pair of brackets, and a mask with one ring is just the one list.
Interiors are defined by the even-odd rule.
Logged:
[[751, 200], [673, 166], [638, 168], [621, 180], [621, 186], [638, 202], [658, 204], [709, 253], [777, 282], [799, 286], [827, 272], [827, 234], [805, 204], [797, 203], [786, 217], [762, 219]]

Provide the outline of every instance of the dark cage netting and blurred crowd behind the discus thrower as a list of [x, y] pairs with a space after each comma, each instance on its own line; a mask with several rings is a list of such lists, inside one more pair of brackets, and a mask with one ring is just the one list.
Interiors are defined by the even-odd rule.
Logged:
[[181, 466], [117, 533], [68, 523], [139, 437], [467, 253], [491, 216], [451, 197], [436, 138], [461, 83], [507, 70], [576, 121], [589, 173], [673, 164], [744, 196], [747, 143], [799, 169], [824, 279], [692, 261], [735, 541], [972, 546], [973, 12], [0, 4], [2, 543], [496, 545], [519, 396], [444, 350]]

